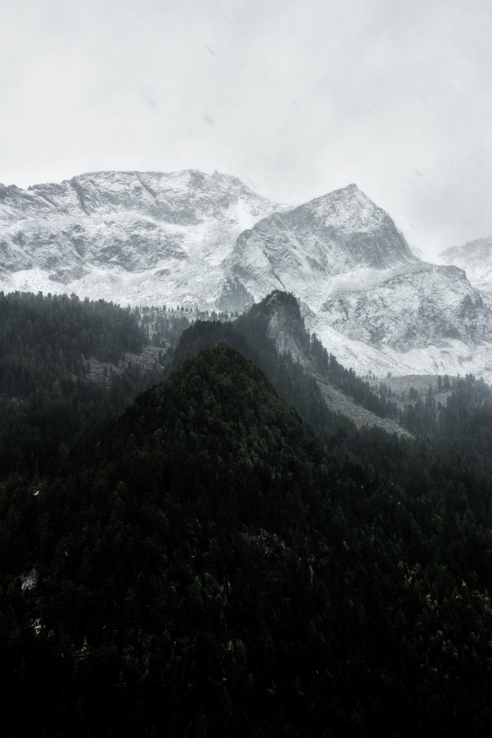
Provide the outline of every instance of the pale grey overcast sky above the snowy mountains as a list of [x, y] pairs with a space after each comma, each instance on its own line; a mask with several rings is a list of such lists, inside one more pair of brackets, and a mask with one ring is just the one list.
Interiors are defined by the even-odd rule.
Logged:
[[436, 253], [492, 235], [491, 37], [491, 0], [4, 2], [0, 182], [356, 182]]

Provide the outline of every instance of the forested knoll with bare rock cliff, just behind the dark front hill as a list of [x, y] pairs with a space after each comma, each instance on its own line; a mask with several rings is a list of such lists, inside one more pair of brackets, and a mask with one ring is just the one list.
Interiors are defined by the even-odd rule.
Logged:
[[[273, 327], [272, 327], [273, 326]], [[375, 415], [395, 419], [397, 406], [378, 396], [356, 373], [345, 369], [306, 330], [292, 294], [272, 292], [234, 323], [197, 320], [181, 335], [173, 365], [217, 343], [237, 348], [259, 366], [283, 399], [318, 433], [353, 429], [353, 423], [330, 410], [316, 379], [337, 387]]]

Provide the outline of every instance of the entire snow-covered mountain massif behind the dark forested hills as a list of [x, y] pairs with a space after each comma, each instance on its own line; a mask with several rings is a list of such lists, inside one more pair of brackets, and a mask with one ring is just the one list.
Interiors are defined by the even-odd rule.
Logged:
[[280, 289], [359, 373], [492, 380], [488, 300], [416, 258], [355, 184], [295, 208], [196, 170], [0, 186], [0, 289], [228, 311]]

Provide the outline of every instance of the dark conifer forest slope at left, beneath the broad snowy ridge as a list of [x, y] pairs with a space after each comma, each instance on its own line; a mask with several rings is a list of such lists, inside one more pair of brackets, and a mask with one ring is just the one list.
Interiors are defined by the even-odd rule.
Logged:
[[38, 477], [66, 461], [77, 436], [121, 412], [159, 379], [138, 366], [87, 378], [89, 356], [117, 362], [142, 351], [145, 336], [131, 311], [103, 300], [0, 293], [0, 477]]

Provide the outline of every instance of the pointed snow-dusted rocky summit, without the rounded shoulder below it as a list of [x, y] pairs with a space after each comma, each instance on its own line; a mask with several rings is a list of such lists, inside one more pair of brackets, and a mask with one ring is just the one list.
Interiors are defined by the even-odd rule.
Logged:
[[243, 232], [232, 273], [257, 297], [271, 289], [323, 289], [353, 269], [389, 269], [415, 257], [384, 210], [355, 184], [274, 213]]

